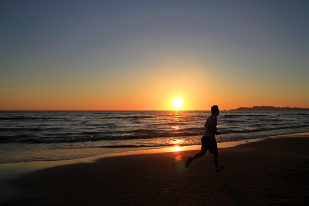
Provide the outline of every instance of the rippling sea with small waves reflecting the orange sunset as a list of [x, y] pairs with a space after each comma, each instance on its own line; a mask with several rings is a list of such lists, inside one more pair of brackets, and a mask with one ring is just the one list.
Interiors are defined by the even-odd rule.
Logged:
[[[0, 111], [0, 164], [200, 145], [210, 111]], [[217, 142], [309, 132], [309, 111], [220, 111]]]

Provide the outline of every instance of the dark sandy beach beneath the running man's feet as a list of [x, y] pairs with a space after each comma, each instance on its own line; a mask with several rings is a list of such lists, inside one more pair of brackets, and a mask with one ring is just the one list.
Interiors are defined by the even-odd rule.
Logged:
[[[219, 149], [134, 154], [62, 165], [7, 180], [1, 205], [308, 205], [309, 135], [269, 138]], [[10, 188], [8, 188], [9, 191]]]

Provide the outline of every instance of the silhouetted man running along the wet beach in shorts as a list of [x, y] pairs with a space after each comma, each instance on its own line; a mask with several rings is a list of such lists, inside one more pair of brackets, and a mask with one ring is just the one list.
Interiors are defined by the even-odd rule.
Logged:
[[210, 154], [213, 154], [213, 162], [216, 167], [216, 172], [220, 172], [224, 169], [224, 166], [219, 167], [218, 163], [218, 146], [217, 141], [215, 139], [215, 135], [218, 135], [220, 132], [217, 131], [217, 116], [219, 115], [219, 107], [217, 105], [213, 105], [211, 107], [211, 115], [207, 118], [204, 127], [206, 128], [205, 134], [202, 137], [202, 148], [201, 152], [194, 154], [193, 157], [189, 157], [187, 162], [185, 163], [185, 168], [188, 168], [193, 159], [202, 157], [206, 154], [207, 150], [209, 150]]

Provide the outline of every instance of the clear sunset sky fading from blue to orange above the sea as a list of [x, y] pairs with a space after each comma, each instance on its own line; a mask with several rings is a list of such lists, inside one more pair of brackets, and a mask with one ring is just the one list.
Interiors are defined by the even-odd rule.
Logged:
[[309, 108], [308, 0], [1, 0], [0, 110]]

